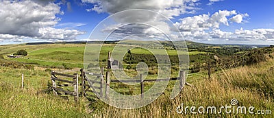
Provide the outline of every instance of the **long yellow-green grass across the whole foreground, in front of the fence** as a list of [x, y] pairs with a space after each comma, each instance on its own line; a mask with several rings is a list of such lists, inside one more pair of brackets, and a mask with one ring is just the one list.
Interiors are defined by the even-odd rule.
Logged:
[[[261, 62], [248, 67], [223, 70], [214, 73], [211, 80], [203, 75], [199, 81], [191, 81], [195, 87], [185, 86], [181, 95], [169, 98], [165, 91], [155, 102], [143, 108], [122, 110], [100, 101], [91, 102], [87, 107], [85, 99], [77, 106], [73, 100], [55, 97], [51, 93], [37, 93], [47, 88], [49, 73], [44, 69], [11, 69], [1, 67], [0, 75], [0, 117], [197, 117], [189, 113], [179, 114], [181, 106], [225, 106], [230, 100], [238, 99], [236, 106], [254, 106], [257, 110], [274, 108], [274, 60]], [[14, 74], [19, 73], [18, 75]], [[21, 74], [26, 73], [25, 89], [21, 90]], [[192, 78], [194, 79], [194, 78]], [[169, 89], [169, 88], [168, 88]], [[91, 113], [88, 111], [92, 111]], [[219, 111], [219, 110], [218, 110]], [[198, 114], [201, 117], [272, 117], [272, 115], [244, 114]]]

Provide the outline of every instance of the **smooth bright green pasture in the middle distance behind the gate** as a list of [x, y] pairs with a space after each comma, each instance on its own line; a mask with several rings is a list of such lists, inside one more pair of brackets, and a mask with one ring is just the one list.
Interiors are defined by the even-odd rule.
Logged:
[[[59, 67], [64, 69], [72, 69], [73, 67], [82, 68], [84, 63], [84, 44], [49, 44], [49, 45], [6, 45], [1, 46], [1, 53], [7, 60], [15, 60], [18, 62], [26, 62], [29, 64], [38, 64], [45, 67]], [[108, 51], [112, 51], [114, 45], [104, 45], [101, 49], [100, 60], [108, 58]], [[23, 58], [8, 58], [10, 54], [16, 53], [19, 49], [28, 51], [28, 56]], [[125, 51], [127, 47], [125, 47]], [[151, 49], [156, 55], [161, 55], [158, 49]], [[132, 49], [133, 54], [151, 54], [150, 51], [141, 48]], [[184, 51], [179, 54], [186, 54]], [[167, 50], [170, 56], [177, 55], [175, 50]], [[206, 52], [190, 51], [190, 55], [206, 54]]]

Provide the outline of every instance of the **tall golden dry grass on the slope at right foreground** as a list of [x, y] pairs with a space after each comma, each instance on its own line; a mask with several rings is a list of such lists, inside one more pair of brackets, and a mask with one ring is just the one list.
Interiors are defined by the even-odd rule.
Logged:
[[[237, 106], [254, 106], [256, 110], [274, 110], [274, 61], [236, 69], [223, 70], [212, 74], [211, 80], [203, 79], [193, 83], [195, 87], [185, 86], [175, 99], [169, 98], [165, 91], [153, 103], [132, 110], [123, 110], [104, 104], [95, 110], [92, 117], [273, 117], [273, 115], [245, 114], [179, 114], [177, 106], [216, 106], [230, 105], [230, 100], [238, 99]], [[218, 110], [218, 109], [217, 109]]]

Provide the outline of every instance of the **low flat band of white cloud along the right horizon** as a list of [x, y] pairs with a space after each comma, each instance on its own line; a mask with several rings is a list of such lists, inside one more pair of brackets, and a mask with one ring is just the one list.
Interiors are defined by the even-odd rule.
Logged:
[[[182, 32], [188, 40], [215, 40], [215, 41], [274, 41], [274, 29], [236, 29], [235, 32], [224, 32], [221, 29], [212, 29], [210, 32]], [[221, 43], [221, 42], [220, 42]]]

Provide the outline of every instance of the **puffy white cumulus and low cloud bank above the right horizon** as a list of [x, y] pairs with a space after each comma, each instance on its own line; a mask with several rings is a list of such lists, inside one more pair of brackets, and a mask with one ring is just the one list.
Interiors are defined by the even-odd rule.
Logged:
[[[221, 24], [229, 26], [231, 23], [245, 23], [248, 14], [237, 14], [235, 10], [219, 10], [210, 16], [186, 17], [175, 23], [184, 37], [188, 40], [233, 40], [233, 41], [274, 41], [274, 29], [236, 29], [235, 32], [224, 32], [219, 29]], [[230, 19], [229, 19], [230, 17]], [[229, 20], [228, 20], [229, 19]]]

